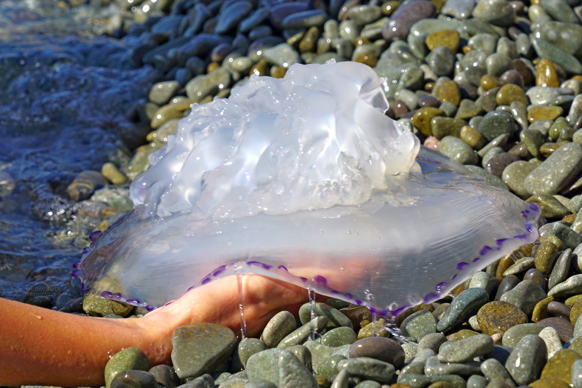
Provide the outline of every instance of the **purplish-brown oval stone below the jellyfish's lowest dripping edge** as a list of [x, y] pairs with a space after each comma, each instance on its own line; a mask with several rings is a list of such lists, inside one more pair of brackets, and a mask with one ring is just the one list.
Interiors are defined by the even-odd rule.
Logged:
[[350, 346], [349, 357], [368, 357], [388, 362], [400, 369], [404, 365], [404, 350], [398, 342], [384, 337], [368, 337]]

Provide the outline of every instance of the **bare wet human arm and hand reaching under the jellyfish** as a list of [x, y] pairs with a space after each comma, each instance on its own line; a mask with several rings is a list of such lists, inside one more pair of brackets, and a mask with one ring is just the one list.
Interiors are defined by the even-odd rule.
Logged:
[[[247, 335], [255, 336], [307, 291], [259, 275], [243, 277]], [[65, 314], [0, 298], [0, 385], [102, 385], [105, 364], [126, 347], [144, 351], [152, 365], [169, 364], [178, 326], [214, 322], [240, 330], [236, 276], [214, 280], [141, 318]]]

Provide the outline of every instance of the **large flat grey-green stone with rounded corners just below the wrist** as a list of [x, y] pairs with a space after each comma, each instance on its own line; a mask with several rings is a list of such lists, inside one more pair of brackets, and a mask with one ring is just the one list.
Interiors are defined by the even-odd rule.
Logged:
[[172, 364], [180, 379], [210, 373], [230, 357], [236, 336], [217, 323], [180, 326], [172, 333]]

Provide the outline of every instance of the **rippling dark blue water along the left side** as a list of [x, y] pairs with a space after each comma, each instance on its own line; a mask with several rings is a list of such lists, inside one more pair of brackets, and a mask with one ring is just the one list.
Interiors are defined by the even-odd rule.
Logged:
[[133, 111], [159, 74], [128, 65], [132, 42], [100, 35], [115, 12], [0, 0], [2, 297], [68, 279], [95, 225], [65, 188], [83, 170], [126, 163], [149, 131]]

